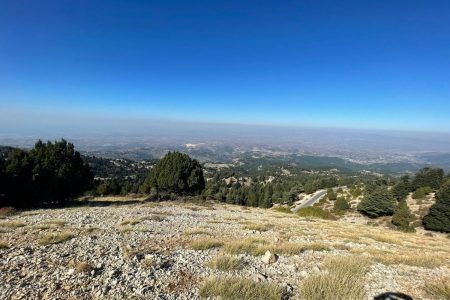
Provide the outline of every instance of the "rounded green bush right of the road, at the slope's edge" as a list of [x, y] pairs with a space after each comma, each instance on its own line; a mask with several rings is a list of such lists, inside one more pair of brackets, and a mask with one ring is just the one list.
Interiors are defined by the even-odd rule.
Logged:
[[394, 213], [396, 203], [385, 186], [375, 188], [359, 203], [358, 211], [371, 218], [389, 216]]

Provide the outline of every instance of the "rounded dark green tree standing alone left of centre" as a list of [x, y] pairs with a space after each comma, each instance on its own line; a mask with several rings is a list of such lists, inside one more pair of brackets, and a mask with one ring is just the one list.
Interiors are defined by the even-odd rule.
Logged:
[[153, 167], [144, 182], [144, 189], [157, 188], [173, 193], [195, 193], [205, 188], [200, 163], [180, 152], [169, 152]]

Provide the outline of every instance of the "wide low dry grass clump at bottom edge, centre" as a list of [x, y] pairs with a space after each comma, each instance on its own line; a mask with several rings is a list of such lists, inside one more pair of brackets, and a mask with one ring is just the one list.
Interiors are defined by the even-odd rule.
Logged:
[[280, 300], [282, 291], [275, 284], [256, 283], [247, 278], [212, 277], [200, 286], [200, 297], [230, 300]]

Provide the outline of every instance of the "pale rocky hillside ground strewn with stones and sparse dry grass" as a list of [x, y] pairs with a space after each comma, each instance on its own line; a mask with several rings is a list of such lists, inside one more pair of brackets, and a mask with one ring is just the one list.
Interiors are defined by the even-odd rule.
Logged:
[[[207, 278], [232, 276], [308, 299], [302, 282], [326, 273], [327, 257], [343, 256], [370, 260], [366, 299], [384, 292], [438, 299], [427, 284], [450, 277], [443, 235], [218, 203], [102, 204], [3, 217], [0, 298], [196, 299]], [[240, 267], [209, 264], [223, 253]]]

